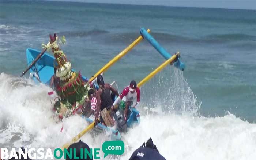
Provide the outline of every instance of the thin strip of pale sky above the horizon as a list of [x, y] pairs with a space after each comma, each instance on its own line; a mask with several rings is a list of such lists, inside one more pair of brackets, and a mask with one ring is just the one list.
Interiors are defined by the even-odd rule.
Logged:
[[256, 10], [256, 0], [63, 0], [63, 1]]

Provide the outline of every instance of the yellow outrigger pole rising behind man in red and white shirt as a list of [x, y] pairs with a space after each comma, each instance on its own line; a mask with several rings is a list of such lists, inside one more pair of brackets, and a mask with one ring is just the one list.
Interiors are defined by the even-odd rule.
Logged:
[[141, 80], [137, 87], [142, 86], [144, 83], [146, 83], [148, 80], [150, 80], [154, 75], [156, 75], [159, 71], [161, 71], [163, 68], [166, 67], [168, 64], [173, 64], [177, 58], [180, 57], [180, 52], [175, 53], [172, 57], [170, 57], [168, 60], [166, 60], [164, 63], [159, 65], [153, 72], [151, 72], [149, 75], [147, 75], [143, 80]]

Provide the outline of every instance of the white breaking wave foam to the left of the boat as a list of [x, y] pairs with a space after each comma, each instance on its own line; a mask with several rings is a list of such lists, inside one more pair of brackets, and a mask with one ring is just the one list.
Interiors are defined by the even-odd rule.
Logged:
[[[25, 85], [26, 84], [26, 85]], [[75, 115], [56, 123], [48, 92], [52, 89], [32, 80], [5, 73], [0, 75], [0, 145], [7, 149], [61, 147], [89, 124]], [[82, 137], [90, 147], [99, 148], [110, 140], [109, 133], [94, 132]], [[102, 153], [103, 156], [103, 153]]]

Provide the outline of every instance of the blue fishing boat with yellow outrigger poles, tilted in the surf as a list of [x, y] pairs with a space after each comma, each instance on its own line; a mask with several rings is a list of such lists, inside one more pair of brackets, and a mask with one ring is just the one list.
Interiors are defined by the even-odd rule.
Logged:
[[[146, 39], [159, 53], [162, 55], [166, 61], [159, 65], [153, 72], [151, 72], [148, 76], [146, 76], [143, 80], [141, 80], [137, 87], [141, 87], [143, 84], [145, 84], [148, 80], [150, 80], [154, 75], [156, 75], [159, 71], [161, 71], [163, 68], [165, 68], [167, 65], [173, 65], [174, 67], [180, 69], [181, 71], [184, 71], [185, 64], [181, 62], [180, 60], [180, 52], [176, 52], [174, 55], [170, 55], [150, 34], [150, 29], [140, 29], [140, 36], [133, 41], [127, 48], [125, 48], [122, 52], [120, 52], [116, 57], [114, 57], [112, 60], [110, 60], [105, 66], [103, 66], [97, 73], [95, 73], [94, 76], [92, 76], [90, 79], [87, 79], [86, 77], [80, 75], [80, 73], [75, 73], [75, 70], [71, 68], [71, 63], [67, 61], [65, 54], [63, 51], [60, 50], [59, 44], [65, 43], [65, 37], [63, 36], [59, 42], [57, 42], [58, 37], [54, 34], [52, 37], [50, 35], [50, 41], [47, 43], [47, 45], [42, 44], [42, 47], [44, 50], [42, 52], [37, 51], [35, 49], [28, 48], [26, 51], [27, 56], [27, 64], [28, 68], [22, 73], [22, 76], [27, 72], [30, 71], [30, 75], [32, 75], [32, 78], [36, 83], [39, 81], [44, 84], [50, 84], [50, 79], [52, 75], [54, 75], [54, 67], [57, 65], [57, 70], [55, 75], [57, 77], [60, 77], [60, 80], [63, 81], [65, 84], [63, 84], [63, 88], [60, 88], [60, 95], [62, 94], [62, 97], [68, 97], [65, 93], [71, 93], [67, 91], [66, 87], [72, 88], [73, 91], [72, 94], [75, 92], [78, 93], [76, 90], [76, 87], [82, 88], [82, 90], [85, 87], [83, 86], [84, 83], [82, 82], [93, 82], [95, 80], [95, 77], [97, 77], [99, 74], [105, 72], [109, 67], [111, 67], [116, 61], [121, 59], [124, 55], [126, 55], [133, 47], [135, 47], [142, 39]], [[52, 50], [53, 55], [50, 55], [48, 53], [45, 53], [47, 49]], [[58, 64], [56, 64], [56, 62]], [[32, 74], [33, 73], [33, 74]], [[67, 83], [66, 83], [67, 80]], [[82, 82], [81, 82], [82, 81]], [[71, 89], [72, 90], [72, 89]], [[65, 93], [63, 93], [65, 92]], [[80, 93], [83, 91], [79, 91]], [[85, 92], [83, 92], [85, 93]], [[77, 94], [79, 95], [79, 94]], [[59, 96], [59, 94], [58, 94]], [[83, 97], [79, 97], [79, 101]], [[67, 102], [67, 101], [66, 101]], [[73, 101], [77, 102], [77, 101]], [[83, 117], [83, 116], [82, 116]], [[119, 109], [119, 111], [114, 112], [114, 118], [117, 122], [117, 124], [122, 124], [122, 126], [118, 127], [118, 129], [112, 129], [109, 127], [106, 127], [102, 124], [97, 124], [94, 127], [94, 120], [85, 118], [89, 123], [91, 123], [89, 126], [87, 126], [83, 131], [81, 131], [78, 135], [76, 135], [70, 142], [63, 145], [62, 149], [68, 148], [69, 145], [72, 143], [78, 141], [80, 137], [82, 137], [85, 133], [87, 133], [90, 129], [96, 129], [98, 131], [111, 131], [111, 137], [112, 139], [118, 140], [121, 139], [120, 132], [119, 131], [126, 131], [127, 127], [131, 127], [133, 124], [139, 124], [140, 123], [140, 115], [139, 111], [135, 108], [129, 108], [128, 109], [128, 119], [124, 123], [124, 119], [122, 116], [122, 111]]]

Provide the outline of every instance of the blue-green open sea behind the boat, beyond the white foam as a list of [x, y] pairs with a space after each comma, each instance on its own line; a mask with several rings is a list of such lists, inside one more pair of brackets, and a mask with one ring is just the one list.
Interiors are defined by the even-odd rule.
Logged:
[[[90, 77], [139, 36], [141, 27], [170, 53], [181, 52], [184, 77], [202, 101], [201, 115], [228, 110], [255, 122], [256, 11], [1, 1], [0, 72], [18, 76], [25, 50], [41, 49], [48, 35], [65, 35], [63, 46], [76, 70]], [[121, 88], [141, 80], [164, 59], [147, 41], [136, 46], [107, 73]], [[164, 95], [163, 95], [164, 96]]]

